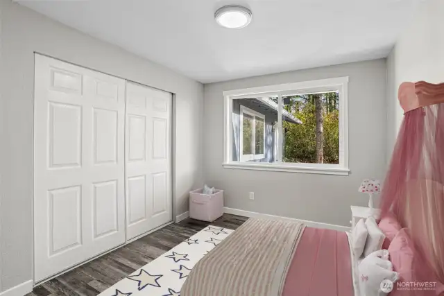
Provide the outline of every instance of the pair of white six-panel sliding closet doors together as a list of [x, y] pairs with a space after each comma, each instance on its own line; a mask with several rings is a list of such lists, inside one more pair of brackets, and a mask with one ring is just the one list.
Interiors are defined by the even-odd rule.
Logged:
[[[35, 55], [35, 282], [171, 221], [171, 94], [153, 91], [163, 96], [131, 107], [139, 102], [127, 98], [132, 85]], [[148, 106], [166, 111], [162, 116]], [[145, 127], [130, 121], [131, 114], [144, 114]], [[130, 157], [143, 158], [145, 171], [126, 177], [141, 162]], [[143, 189], [137, 182], [142, 176]], [[131, 211], [132, 204], [144, 204], [145, 211]], [[131, 223], [131, 214], [139, 221]]]

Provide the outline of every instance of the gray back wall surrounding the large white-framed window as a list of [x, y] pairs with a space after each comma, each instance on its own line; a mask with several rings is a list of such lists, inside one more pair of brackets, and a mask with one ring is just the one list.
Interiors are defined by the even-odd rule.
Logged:
[[[223, 168], [223, 95], [231, 89], [349, 76], [348, 176], [247, 171]], [[358, 193], [366, 177], [384, 178], [386, 168], [386, 61], [258, 76], [204, 86], [205, 182], [225, 190], [225, 207], [350, 226], [350, 205], [365, 206]], [[255, 200], [248, 200], [248, 192]]]

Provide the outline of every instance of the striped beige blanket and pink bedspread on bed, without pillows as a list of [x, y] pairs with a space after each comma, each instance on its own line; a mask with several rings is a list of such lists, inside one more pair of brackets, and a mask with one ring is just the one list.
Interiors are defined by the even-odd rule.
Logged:
[[358, 296], [348, 233], [250, 218], [191, 270], [181, 296]]

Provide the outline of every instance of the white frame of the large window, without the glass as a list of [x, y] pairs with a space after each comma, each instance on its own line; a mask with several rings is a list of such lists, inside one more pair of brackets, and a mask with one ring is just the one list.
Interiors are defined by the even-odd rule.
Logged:
[[[282, 96], [294, 94], [314, 94], [339, 92], [339, 164], [297, 164], [282, 162], [282, 145], [278, 145], [278, 161], [239, 162], [232, 161], [232, 100], [252, 95], [278, 95], [278, 134], [282, 134]], [[224, 97], [224, 146], [223, 167], [259, 171], [282, 171], [296, 173], [316, 173], [327, 175], [348, 175], [348, 77], [328, 78], [282, 85], [234, 89], [223, 92]], [[253, 110], [252, 110], [253, 111]], [[242, 114], [242, 111], [241, 111]], [[242, 116], [241, 116], [242, 120]], [[243, 121], [241, 121], [241, 125]], [[265, 132], [264, 132], [265, 134]], [[241, 134], [242, 137], [242, 134]], [[241, 139], [242, 140], [242, 139]], [[279, 141], [279, 140], [278, 140]], [[265, 143], [265, 141], [264, 141]], [[242, 150], [242, 142], [241, 142]], [[242, 152], [242, 151], [241, 151]], [[265, 148], [264, 148], [265, 153]]]

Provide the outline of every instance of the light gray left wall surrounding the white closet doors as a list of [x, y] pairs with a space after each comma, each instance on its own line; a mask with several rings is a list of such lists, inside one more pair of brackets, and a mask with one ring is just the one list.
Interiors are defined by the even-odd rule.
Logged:
[[10, 0], [0, 1], [0, 14], [0, 290], [6, 290], [33, 275], [34, 51], [176, 94], [176, 214], [187, 211], [188, 191], [203, 181], [203, 85]]

